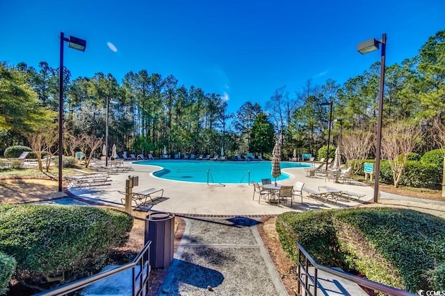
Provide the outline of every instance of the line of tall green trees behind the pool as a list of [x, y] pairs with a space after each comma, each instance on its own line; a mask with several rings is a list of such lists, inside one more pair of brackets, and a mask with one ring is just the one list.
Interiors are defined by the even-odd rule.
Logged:
[[[0, 150], [29, 144], [26, 133], [49, 131], [58, 124], [59, 71], [47, 62], [37, 68], [0, 62]], [[264, 106], [246, 98], [235, 113], [228, 111], [219, 94], [187, 88], [172, 75], [130, 71], [118, 82], [111, 73], [72, 78], [65, 68], [63, 74], [66, 155], [74, 153], [73, 139], [87, 135], [93, 142], [104, 141], [107, 102], [108, 146], [115, 143], [120, 152], [159, 155], [166, 146], [169, 153], [213, 155], [223, 146], [228, 155], [267, 155], [275, 135], [282, 134], [284, 157], [294, 149], [316, 155], [327, 141], [329, 127], [332, 146], [341, 130], [345, 141], [353, 132], [376, 130], [380, 62], [343, 84], [327, 79], [323, 85], [307, 80], [293, 92], [278, 87]], [[335, 122], [329, 122], [329, 106], [322, 105], [326, 101], [333, 102]], [[445, 30], [432, 35], [414, 57], [386, 67], [383, 105], [384, 127], [403, 122], [421, 129], [423, 141], [416, 152], [437, 146], [431, 139], [432, 126], [444, 119]], [[55, 143], [53, 150], [57, 149]]]

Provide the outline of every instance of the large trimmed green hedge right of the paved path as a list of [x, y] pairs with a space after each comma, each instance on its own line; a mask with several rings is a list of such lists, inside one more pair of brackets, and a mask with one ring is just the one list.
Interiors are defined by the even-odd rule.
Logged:
[[[320, 225], [320, 226], [318, 226]], [[445, 290], [445, 220], [408, 209], [355, 208], [277, 218], [286, 252], [298, 241], [318, 263], [416, 293]]]

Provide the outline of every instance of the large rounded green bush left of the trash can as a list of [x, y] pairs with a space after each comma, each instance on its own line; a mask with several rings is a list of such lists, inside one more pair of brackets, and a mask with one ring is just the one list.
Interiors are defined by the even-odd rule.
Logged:
[[128, 214], [112, 209], [49, 204], [0, 207], [0, 251], [15, 256], [19, 275], [54, 277], [81, 259], [127, 241]]

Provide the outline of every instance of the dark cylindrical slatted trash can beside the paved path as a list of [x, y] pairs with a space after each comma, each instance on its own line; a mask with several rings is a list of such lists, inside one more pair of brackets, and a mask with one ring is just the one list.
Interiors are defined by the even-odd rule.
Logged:
[[152, 268], [167, 268], [173, 261], [175, 215], [158, 212], [145, 218], [145, 243], [150, 245], [149, 264]]

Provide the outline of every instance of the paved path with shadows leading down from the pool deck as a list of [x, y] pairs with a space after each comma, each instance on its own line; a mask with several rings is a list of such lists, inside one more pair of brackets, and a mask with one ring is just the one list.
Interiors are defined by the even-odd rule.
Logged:
[[257, 219], [184, 220], [186, 230], [159, 295], [287, 295]]

